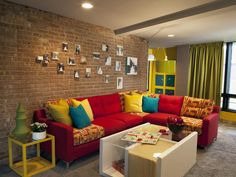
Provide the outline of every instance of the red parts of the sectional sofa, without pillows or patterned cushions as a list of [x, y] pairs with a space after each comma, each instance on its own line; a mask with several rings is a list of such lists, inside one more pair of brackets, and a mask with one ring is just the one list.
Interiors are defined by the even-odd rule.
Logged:
[[[182, 96], [161, 95], [159, 112], [144, 117], [122, 112], [121, 99], [118, 93], [88, 97], [87, 99], [94, 114], [92, 124], [102, 126], [105, 130], [105, 136], [107, 136], [144, 122], [166, 126], [168, 116], [180, 115], [183, 98]], [[77, 100], [83, 99], [85, 98], [77, 98]], [[198, 138], [199, 146], [206, 147], [217, 137], [218, 119], [219, 107], [214, 107], [213, 113], [203, 119], [202, 134]], [[55, 136], [56, 156], [65, 162], [71, 162], [97, 151], [99, 148], [99, 139], [74, 146], [73, 127], [48, 119], [44, 109], [35, 110], [34, 120], [48, 125], [47, 132]], [[50, 144], [43, 144], [42, 149], [50, 152]]]

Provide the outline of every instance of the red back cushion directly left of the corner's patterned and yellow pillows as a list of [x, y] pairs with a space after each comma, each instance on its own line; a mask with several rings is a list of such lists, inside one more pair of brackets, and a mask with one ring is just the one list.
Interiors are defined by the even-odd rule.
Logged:
[[122, 111], [120, 95], [118, 93], [101, 96], [101, 100], [105, 115], [120, 113]]

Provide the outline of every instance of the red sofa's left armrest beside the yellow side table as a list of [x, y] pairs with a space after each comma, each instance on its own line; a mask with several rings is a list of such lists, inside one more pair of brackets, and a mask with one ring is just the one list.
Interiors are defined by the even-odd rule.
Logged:
[[48, 121], [48, 133], [55, 136], [56, 155], [70, 162], [73, 159], [73, 127], [54, 121]]

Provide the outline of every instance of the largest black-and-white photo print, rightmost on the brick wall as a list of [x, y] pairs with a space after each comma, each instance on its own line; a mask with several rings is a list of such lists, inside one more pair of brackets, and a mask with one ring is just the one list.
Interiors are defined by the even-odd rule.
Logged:
[[125, 64], [125, 72], [127, 75], [137, 75], [138, 69], [138, 58], [135, 57], [127, 57]]

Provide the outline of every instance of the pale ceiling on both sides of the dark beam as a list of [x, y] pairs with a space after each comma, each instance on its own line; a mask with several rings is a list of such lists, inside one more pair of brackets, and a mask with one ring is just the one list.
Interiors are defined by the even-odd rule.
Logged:
[[[88, 0], [93, 9], [81, 8], [83, 0], [9, 0], [112, 30], [166, 16], [215, 0]], [[221, 0], [222, 1], [222, 0]], [[236, 5], [129, 31], [143, 37], [150, 47], [172, 47], [236, 40]], [[168, 34], [175, 37], [168, 38]]]

